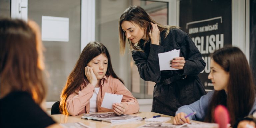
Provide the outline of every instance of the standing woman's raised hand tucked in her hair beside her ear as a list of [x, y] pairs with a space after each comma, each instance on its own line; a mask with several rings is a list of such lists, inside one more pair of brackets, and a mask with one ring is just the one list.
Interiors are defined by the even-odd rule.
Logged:
[[150, 22], [150, 24], [152, 25], [152, 28], [149, 32], [149, 37], [151, 39], [151, 44], [156, 44], [159, 45], [160, 42], [160, 31], [157, 27], [157, 24], [153, 24], [152, 22]]

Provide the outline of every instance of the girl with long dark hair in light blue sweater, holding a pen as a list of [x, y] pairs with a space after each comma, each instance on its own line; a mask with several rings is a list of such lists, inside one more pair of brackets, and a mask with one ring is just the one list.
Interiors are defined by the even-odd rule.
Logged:
[[[174, 124], [189, 123], [190, 120], [215, 122], [214, 109], [224, 105], [230, 115], [230, 124], [256, 111], [255, 87], [252, 73], [243, 52], [237, 47], [226, 46], [216, 50], [211, 59], [211, 79], [214, 90], [200, 100], [182, 106], [176, 112]], [[195, 115], [184, 118], [187, 114]], [[180, 120], [181, 119], [181, 120]]]

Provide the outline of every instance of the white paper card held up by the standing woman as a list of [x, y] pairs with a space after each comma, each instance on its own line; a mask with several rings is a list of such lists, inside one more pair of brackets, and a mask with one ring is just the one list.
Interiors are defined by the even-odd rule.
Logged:
[[180, 50], [172, 50], [169, 52], [158, 53], [160, 71], [163, 70], [178, 70], [170, 67], [170, 60], [180, 56]]

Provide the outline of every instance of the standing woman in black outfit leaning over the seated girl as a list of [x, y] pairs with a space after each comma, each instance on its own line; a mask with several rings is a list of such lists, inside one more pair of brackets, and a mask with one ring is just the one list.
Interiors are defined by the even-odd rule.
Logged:
[[[189, 35], [177, 27], [153, 21], [139, 6], [127, 8], [120, 17], [120, 52], [125, 51], [126, 38], [140, 77], [156, 83], [152, 112], [175, 116], [180, 106], [197, 101], [205, 90], [197, 76], [205, 62]], [[158, 53], [180, 49], [180, 57], [170, 60], [179, 70], [160, 71]]]

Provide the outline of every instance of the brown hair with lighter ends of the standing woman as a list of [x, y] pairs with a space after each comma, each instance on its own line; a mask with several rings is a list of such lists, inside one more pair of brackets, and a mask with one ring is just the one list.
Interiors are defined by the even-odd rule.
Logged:
[[[168, 26], [168, 25], [158, 24], [157, 22], [152, 20], [150, 18], [150, 16], [147, 14], [147, 12], [143, 8], [141, 8], [140, 6], [130, 6], [129, 8], [127, 8], [123, 12], [123, 14], [121, 15], [120, 20], [119, 20], [119, 42], [120, 42], [120, 53], [122, 55], [125, 52], [125, 44], [126, 44], [126, 36], [125, 36], [124, 31], [122, 30], [122, 23], [124, 21], [130, 21], [132, 23], [135, 23], [135, 24], [139, 25], [142, 28], [145, 28], [145, 30], [146, 30], [145, 33], [147, 33], [146, 34], [146, 39], [147, 40], [145, 40], [144, 45], [147, 42], [150, 42], [150, 38], [148, 38], [149, 37], [148, 33], [151, 30], [150, 22], [152, 22], [154, 24], [157, 24], [158, 29], [159, 29], [160, 32], [166, 31], [165, 32], [165, 37], [170, 32], [171, 28], [178, 28], [178, 27], [175, 27], [175, 26]], [[132, 50], [141, 50], [139, 48], [139, 44], [133, 44], [133, 43], [131, 43], [131, 41], [129, 39], [128, 39], [128, 42], [129, 42]]]

